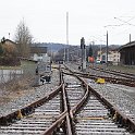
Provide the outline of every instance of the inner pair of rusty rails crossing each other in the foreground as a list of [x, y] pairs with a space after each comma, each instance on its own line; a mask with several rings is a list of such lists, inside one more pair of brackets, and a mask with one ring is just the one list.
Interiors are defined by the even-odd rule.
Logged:
[[[61, 77], [61, 82], [64, 82], [62, 71], [60, 73], [60, 77]], [[68, 102], [66, 102], [66, 96], [65, 96], [65, 85], [63, 83], [62, 84], [62, 94], [63, 94], [63, 100], [64, 100], [63, 101], [64, 102], [64, 112], [58, 118], [58, 120], [49, 128], [47, 128], [45, 131], [45, 133], [42, 135], [52, 135], [54, 130], [57, 130], [58, 126], [60, 126], [64, 121], [66, 122], [66, 134], [68, 135], [73, 134], [70, 118], [73, 119], [73, 114], [76, 112], [77, 109], [79, 109], [83, 106], [83, 103], [86, 101], [86, 99], [89, 95], [88, 85], [86, 84], [86, 82], [84, 79], [82, 79], [81, 77], [77, 77], [77, 78], [81, 79], [84, 83], [84, 85], [87, 87], [85, 95], [83, 96], [81, 101], [76, 106], [73, 107], [72, 110], [69, 110], [68, 109]], [[66, 119], [66, 120], [64, 120], [64, 119]]]

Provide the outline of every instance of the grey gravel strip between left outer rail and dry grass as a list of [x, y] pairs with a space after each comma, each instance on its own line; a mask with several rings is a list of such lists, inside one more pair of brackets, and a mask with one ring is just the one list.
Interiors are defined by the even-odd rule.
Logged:
[[59, 71], [53, 70], [50, 84], [46, 83], [45, 85], [41, 85], [39, 87], [32, 88], [33, 90], [27, 89], [25, 90], [23, 96], [14, 96], [13, 100], [4, 102], [2, 106], [0, 106], [0, 116], [7, 115], [23, 108], [26, 105], [36, 101], [37, 99], [44, 98], [45, 95], [48, 95], [49, 93], [54, 90], [59, 86]]

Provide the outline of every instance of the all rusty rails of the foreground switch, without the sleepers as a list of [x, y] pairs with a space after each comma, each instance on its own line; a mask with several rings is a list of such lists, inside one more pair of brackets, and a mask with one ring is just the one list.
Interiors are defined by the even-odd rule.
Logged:
[[[116, 107], [112, 106], [105, 97], [100, 96], [83, 78], [78, 77], [78, 75], [73, 74], [73, 73], [64, 73], [64, 74], [69, 74], [69, 75], [73, 75], [73, 76], [77, 77], [83, 83], [85, 90], [86, 90], [84, 96], [82, 97], [81, 101], [77, 105], [75, 105], [73, 107], [73, 109], [70, 110], [68, 108], [65, 85], [64, 85], [64, 81], [63, 81], [63, 73], [61, 70], [60, 70], [61, 85], [59, 86], [59, 88], [57, 90], [53, 90], [51, 94], [47, 95], [45, 98], [42, 98], [36, 102], [33, 102], [29, 106], [21, 109], [22, 114], [26, 115], [27, 113], [30, 113], [32, 111], [34, 111], [34, 108], [41, 106], [45, 101], [51, 99], [54, 95], [57, 95], [62, 89], [64, 110], [58, 116], [57, 121], [42, 133], [42, 135], [52, 135], [58, 130], [58, 127], [60, 127], [63, 123], [65, 124], [65, 127], [66, 127], [66, 134], [72, 135], [73, 131], [71, 127], [71, 125], [72, 125], [71, 121], [74, 118], [74, 114], [76, 113], [76, 111], [78, 111], [83, 107], [83, 105], [87, 100], [90, 93], [93, 93], [100, 101], [103, 102], [105, 106], [108, 107], [108, 109], [110, 110], [110, 116], [113, 119], [113, 121], [118, 122], [120, 124], [120, 126], [125, 126], [128, 131], [135, 132], [135, 122], [133, 122], [126, 115], [124, 115]], [[9, 115], [1, 116], [0, 123], [3, 125], [8, 124], [13, 119], [16, 119], [16, 115], [17, 115], [17, 111], [15, 111]]]

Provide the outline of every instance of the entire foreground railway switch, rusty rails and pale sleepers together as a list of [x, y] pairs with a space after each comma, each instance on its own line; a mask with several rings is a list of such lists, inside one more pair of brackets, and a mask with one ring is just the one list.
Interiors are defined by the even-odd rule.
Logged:
[[[60, 72], [60, 87], [45, 98], [0, 118], [1, 135], [128, 135], [135, 123], [77, 75]], [[26, 114], [27, 112], [27, 114]]]

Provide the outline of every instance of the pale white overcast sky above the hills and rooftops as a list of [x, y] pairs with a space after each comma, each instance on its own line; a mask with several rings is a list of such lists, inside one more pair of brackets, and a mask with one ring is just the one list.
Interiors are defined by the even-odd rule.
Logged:
[[70, 45], [106, 44], [107, 30], [109, 45], [135, 40], [135, 0], [0, 0], [0, 38], [24, 19], [35, 41], [66, 44], [66, 12]]

